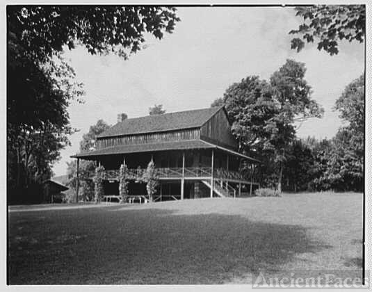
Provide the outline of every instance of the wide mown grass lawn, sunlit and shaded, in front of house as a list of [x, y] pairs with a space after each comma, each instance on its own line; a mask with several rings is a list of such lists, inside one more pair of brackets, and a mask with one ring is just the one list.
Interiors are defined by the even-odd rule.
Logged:
[[10, 207], [8, 216], [10, 284], [245, 284], [259, 270], [362, 269], [360, 193]]

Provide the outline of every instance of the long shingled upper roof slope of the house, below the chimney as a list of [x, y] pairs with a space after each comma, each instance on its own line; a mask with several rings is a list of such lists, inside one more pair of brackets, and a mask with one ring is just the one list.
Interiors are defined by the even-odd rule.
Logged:
[[135, 117], [115, 124], [97, 138], [202, 127], [220, 108], [222, 107]]

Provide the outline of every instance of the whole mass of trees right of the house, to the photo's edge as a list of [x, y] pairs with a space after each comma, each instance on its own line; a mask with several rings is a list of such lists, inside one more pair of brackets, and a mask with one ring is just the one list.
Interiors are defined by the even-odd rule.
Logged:
[[212, 106], [225, 105], [241, 152], [261, 161], [261, 186], [282, 190], [363, 190], [364, 77], [334, 106], [346, 123], [330, 140], [299, 139], [296, 122], [321, 117], [305, 65], [287, 60], [270, 81], [248, 76]]

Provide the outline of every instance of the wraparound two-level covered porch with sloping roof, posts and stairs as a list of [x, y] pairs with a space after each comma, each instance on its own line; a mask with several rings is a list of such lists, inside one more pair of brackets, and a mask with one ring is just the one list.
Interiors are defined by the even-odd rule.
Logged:
[[[124, 162], [129, 168], [129, 196], [147, 195], [140, 178], [149, 161], [154, 161], [159, 179], [154, 201], [252, 195], [254, 189], [259, 187], [254, 181], [254, 165], [258, 161], [225, 147], [202, 143], [203, 147], [199, 145], [197, 148], [175, 149], [175, 145], [172, 145], [172, 149], [148, 149], [142, 152], [129, 152], [120, 147], [121, 153], [115, 151], [118, 149], [103, 149], [106, 151], [98, 150], [73, 157], [78, 160], [77, 165], [79, 159], [87, 159], [104, 166], [105, 195], [119, 195], [119, 168]], [[244, 172], [241, 171], [243, 166]], [[79, 184], [79, 170], [76, 175], [76, 184]], [[91, 173], [88, 179], [93, 176], [94, 173]], [[76, 192], [76, 198], [78, 195]]]

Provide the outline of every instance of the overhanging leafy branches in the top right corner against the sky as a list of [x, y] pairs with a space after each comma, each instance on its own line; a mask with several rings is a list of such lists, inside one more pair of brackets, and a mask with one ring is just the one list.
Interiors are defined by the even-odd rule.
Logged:
[[[296, 7], [296, 16], [304, 19], [290, 34], [302, 35], [291, 40], [291, 48], [300, 51], [306, 42], [318, 41], [318, 50], [331, 56], [339, 53], [339, 42], [363, 42], [366, 33], [365, 5], [317, 5]], [[305, 41], [304, 41], [305, 40]]]

